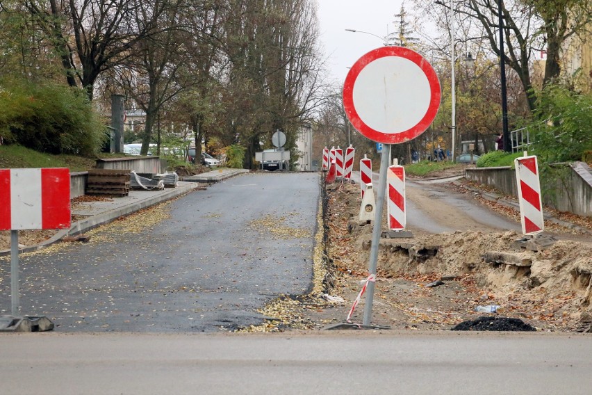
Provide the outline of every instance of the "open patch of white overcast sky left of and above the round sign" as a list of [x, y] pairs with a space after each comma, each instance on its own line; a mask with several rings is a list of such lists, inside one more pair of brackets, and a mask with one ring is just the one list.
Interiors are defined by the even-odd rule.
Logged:
[[318, 0], [320, 40], [336, 81], [343, 83], [349, 71], [347, 67], [371, 49], [381, 47], [384, 42], [381, 38], [395, 31], [394, 15], [400, 12], [401, 3], [402, 0]]

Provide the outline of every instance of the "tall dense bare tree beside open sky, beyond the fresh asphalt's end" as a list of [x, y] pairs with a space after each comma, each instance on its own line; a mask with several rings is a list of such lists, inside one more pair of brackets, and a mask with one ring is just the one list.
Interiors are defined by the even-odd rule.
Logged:
[[316, 10], [310, 0], [232, 0], [227, 25], [233, 138], [247, 147], [246, 166], [271, 134], [286, 133], [288, 149], [318, 105], [320, 57]]

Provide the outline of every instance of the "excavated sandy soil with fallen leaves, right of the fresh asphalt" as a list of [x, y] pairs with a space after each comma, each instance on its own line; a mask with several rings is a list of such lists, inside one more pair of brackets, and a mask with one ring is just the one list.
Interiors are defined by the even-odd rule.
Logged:
[[[448, 187], [458, 188], [458, 184]], [[353, 184], [327, 186], [328, 282], [333, 287], [324, 296], [327, 303], [303, 309], [301, 321], [309, 323], [308, 328], [345, 322], [368, 276], [372, 225], [356, 220], [361, 204], [358, 188]], [[471, 194], [467, 198], [476, 199]], [[518, 213], [507, 207], [486, 204], [519, 220]], [[464, 221], [471, 221], [454, 215], [460, 229]], [[520, 330], [532, 325], [536, 330], [589, 331], [592, 237], [549, 225], [559, 241], [539, 251], [513, 247], [523, 235], [495, 229], [441, 234], [409, 229], [413, 230], [411, 239], [381, 239], [371, 325], [450, 330], [465, 323], [469, 330]], [[589, 218], [580, 218], [579, 225], [588, 226]], [[441, 281], [433, 284], [436, 280]], [[364, 304], [365, 296], [350, 318], [352, 323], [363, 322]], [[477, 306], [489, 305], [499, 306], [498, 311], [475, 311]], [[486, 321], [482, 316], [520, 321]]]

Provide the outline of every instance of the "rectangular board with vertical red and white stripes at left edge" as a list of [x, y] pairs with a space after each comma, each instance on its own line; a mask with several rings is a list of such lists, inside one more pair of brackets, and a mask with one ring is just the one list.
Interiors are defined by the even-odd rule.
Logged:
[[0, 202], [0, 230], [69, 228], [69, 169], [0, 169]]

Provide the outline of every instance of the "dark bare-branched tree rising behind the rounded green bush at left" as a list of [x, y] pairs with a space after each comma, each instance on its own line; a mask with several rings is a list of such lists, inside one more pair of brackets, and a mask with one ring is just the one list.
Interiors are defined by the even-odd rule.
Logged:
[[155, 7], [148, 21], [136, 24], [141, 0], [22, 1], [59, 54], [69, 86], [81, 86], [90, 99], [99, 74], [131, 56], [163, 12]]

